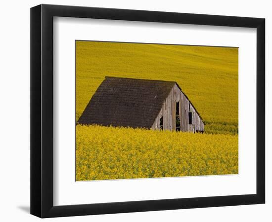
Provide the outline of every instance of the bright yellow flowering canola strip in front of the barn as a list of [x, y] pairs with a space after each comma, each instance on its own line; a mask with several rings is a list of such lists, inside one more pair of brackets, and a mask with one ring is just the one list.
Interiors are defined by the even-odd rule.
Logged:
[[238, 136], [123, 127], [76, 128], [76, 180], [238, 173]]

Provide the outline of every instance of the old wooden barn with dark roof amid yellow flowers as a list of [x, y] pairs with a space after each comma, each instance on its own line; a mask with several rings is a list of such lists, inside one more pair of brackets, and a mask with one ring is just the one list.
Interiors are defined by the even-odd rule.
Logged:
[[78, 123], [204, 132], [201, 116], [177, 82], [107, 76]]

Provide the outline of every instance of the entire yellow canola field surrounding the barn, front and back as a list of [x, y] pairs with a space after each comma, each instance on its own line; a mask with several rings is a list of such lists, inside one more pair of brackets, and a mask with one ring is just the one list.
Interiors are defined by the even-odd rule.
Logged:
[[76, 126], [76, 180], [238, 173], [238, 48], [76, 42], [76, 120], [105, 76], [177, 81], [204, 134]]

